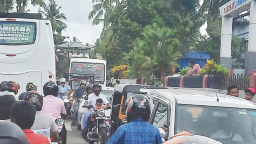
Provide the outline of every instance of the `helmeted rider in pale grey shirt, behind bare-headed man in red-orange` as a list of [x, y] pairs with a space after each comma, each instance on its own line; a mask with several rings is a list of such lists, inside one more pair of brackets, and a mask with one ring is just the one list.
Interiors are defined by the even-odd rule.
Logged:
[[26, 92], [24, 101], [33, 104], [37, 110], [34, 124], [31, 129], [38, 134], [46, 136], [50, 142], [50, 136], [55, 142], [57, 142], [59, 135], [54, 118], [51, 115], [42, 114], [40, 112], [43, 106], [43, 97], [37, 93], [37, 91], [32, 90]]

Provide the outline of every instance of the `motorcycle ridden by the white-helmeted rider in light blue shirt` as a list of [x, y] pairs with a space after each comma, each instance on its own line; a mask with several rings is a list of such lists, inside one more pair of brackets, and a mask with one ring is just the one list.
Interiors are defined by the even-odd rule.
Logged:
[[71, 107], [74, 104], [73, 96], [69, 95], [67, 92], [59, 93], [62, 100], [64, 101], [65, 109], [69, 118], [73, 115], [71, 112]]

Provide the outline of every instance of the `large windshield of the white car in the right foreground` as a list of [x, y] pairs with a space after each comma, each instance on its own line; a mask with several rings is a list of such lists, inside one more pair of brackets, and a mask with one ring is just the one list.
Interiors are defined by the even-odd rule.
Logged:
[[225, 144], [255, 144], [256, 110], [178, 104], [175, 133], [184, 130]]

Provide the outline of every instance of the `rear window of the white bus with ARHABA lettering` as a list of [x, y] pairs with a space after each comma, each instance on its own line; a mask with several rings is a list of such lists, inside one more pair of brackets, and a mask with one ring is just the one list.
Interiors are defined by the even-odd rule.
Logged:
[[36, 37], [36, 23], [0, 21], [1, 45], [33, 44]]

